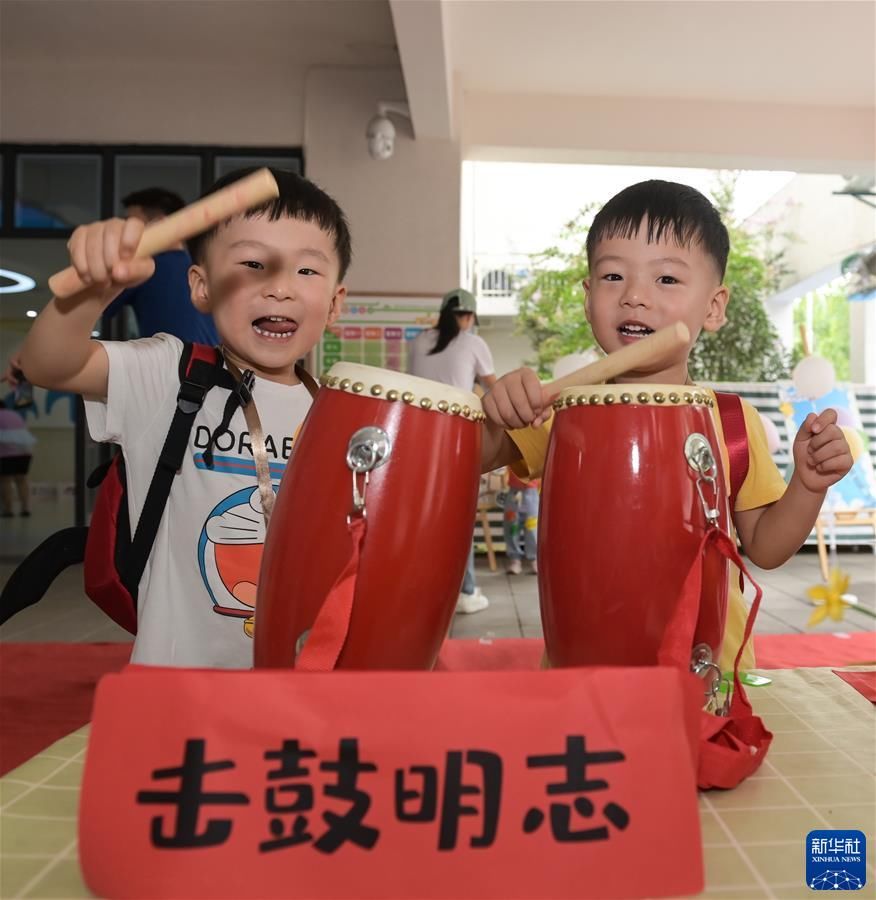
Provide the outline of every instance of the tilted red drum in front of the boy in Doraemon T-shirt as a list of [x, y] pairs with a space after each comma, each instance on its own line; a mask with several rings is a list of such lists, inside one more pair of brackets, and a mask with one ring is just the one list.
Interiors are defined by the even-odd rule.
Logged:
[[[352, 613], [331, 667], [431, 669], [471, 545], [480, 401], [424, 378], [351, 363], [333, 366], [322, 384], [268, 529], [255, 664], [296, 664], [348, 566]], [[364, 527], [358, 564], [350, 530], [357, 521]]]

